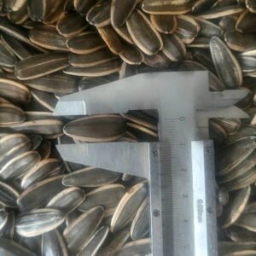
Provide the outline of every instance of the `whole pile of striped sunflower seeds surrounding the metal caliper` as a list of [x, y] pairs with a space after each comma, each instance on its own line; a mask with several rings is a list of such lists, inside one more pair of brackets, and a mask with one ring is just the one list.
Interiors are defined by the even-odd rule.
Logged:
[[150, 253], [147, 181], [64, 162], [55, 144], [157, 141], [157, 114], [53, 110], [60, 96], [163, 70], [207, 70], [210, 90], [247, 89], [236, 105], [250, 118], [211, 119], [210, 135], [219, 255], [256, 255], [255, 0], [0, 0], [0, 9], [1, 255]]

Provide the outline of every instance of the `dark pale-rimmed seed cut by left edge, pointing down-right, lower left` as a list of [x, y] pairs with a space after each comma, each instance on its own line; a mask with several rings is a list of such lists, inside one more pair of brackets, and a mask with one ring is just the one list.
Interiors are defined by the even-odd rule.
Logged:
[[0, 182], [0, 188], [0, 206], [16, 208], [20, 194], [7, 183]]

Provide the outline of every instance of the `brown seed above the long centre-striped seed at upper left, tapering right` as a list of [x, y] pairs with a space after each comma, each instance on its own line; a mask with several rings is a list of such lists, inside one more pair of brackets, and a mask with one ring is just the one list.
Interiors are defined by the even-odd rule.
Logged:
[[32, 43], [44, 49], [55, 49], [69, 51], [67, 49], [65, 38], [56, 30], [55, 26], [36, 26], [29, 32], [29, 38]]

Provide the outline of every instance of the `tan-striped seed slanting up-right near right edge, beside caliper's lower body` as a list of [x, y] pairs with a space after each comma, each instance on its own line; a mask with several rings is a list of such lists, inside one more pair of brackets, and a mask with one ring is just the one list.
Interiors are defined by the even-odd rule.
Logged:
[[241, 216], [241, 213], [247, 205], [250, 193], [251, 188], [247, 187], [237, 190], [230, 195], [230, 201], [224, 207], [224, 216], [222, 216], [220, 220], [223, 229], [229, 227], [231, 224], [234, 224]]

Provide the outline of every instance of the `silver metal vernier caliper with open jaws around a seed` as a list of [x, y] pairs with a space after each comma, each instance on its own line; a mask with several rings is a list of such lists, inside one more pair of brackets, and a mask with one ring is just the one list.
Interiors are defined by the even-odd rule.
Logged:
[[208, 90], [207, 72], [142, 73], [63, 96], [55, 115], [156, 109], [159, 143], [58, 145], [63, 160], [149, 180], [152, 254], [218, 255], [208, 119], [246, 118], [247, 90]]

